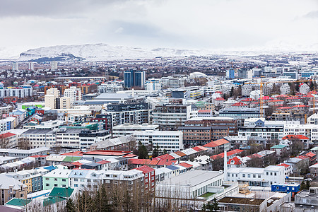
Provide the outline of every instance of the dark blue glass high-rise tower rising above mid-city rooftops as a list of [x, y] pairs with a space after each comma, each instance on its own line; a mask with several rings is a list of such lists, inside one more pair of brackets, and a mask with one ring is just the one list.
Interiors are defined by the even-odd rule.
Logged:
[[124, 88], [145, 88], [145, 71], [124, 71]]

